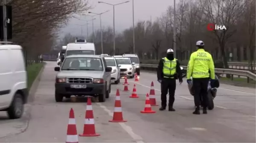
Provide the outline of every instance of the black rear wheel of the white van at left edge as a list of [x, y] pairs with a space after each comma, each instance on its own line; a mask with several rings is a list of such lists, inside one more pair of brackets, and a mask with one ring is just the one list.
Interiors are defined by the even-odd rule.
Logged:
[[10, 119], [17, 119], [23, 115], [24, 102], [19, 93], [15, 93], [11, 106], [8, 108], [7, 113]]

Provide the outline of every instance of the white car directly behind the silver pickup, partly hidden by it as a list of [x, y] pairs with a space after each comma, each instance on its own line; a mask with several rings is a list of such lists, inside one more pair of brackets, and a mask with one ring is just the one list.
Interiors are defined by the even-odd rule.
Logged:
[[114, 81], [115, 84], [120, 82], [120, 66], [116, 63], [116, 59], [113, 57], [104, 57], [108, 67], [112, 67], [111, 71], [111, 81]]

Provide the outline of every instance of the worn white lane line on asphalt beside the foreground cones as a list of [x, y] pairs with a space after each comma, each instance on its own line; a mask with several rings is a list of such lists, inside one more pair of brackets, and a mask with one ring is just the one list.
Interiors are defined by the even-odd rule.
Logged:
[[[109, 116], [113, 117], [113, 112], [111, 112], [109, 109], [107, 109], [107, 107], [105, 107], [104, 105], [102, 105], [100, 103], [96, 103], [96, 104], [98, 104], [99, 107], [101, 107], [104, 111], [106, 111]], [[145, 143], [142, 141], [143, 140], [142, 137], [140, 137], [139, 135], [135, 134], [132, 131], [131, 126], [128, 126], [125, 123], [119, 123], [119, 125], [122, 127], [122, 129], [125, 130], [125, 132], [127, 132], [136, 141], [136, 143]]]

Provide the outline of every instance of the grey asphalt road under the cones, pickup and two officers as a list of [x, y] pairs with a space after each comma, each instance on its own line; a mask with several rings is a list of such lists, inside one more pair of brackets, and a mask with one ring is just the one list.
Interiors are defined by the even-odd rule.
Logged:
[[[55, 102], [55, 64], [47, 62], [42, 73], [34, 101], [30, 103], [28, 129], [18, 135], [2, 137], [0, 143], [64, 143], [71, 107], [78, 133], [82, 132], [86, 103]], [[177, 84], [176, 112], [160, 112], [159, 107], [152, 107], [157, 113], [141, 114], [151, 81], [154, 81], [157, 103], [160, 104], [160, 84], [154, 73], [142, 72], [138, 82], [128, 79], [129, 92], [122, 91], [122, 84], [113, 84], [111, 96], [105, 103], [93, 103], [96, 132], [101, 136], [79, 137], [79, 143], [255, 143], [256, 89], [221, 84], [214, 100], [215, 109], [207, 115], [193, 115], [193, 98], [184, 82]], [[140, 98], [129, 98], [135, 83]], [[121, 91], [123, 115], [128, 121], [125, 123], [108, 122], [112, 118], [116, 89]], [[9, 130], [8, 126], [3, 127], [1, 125], [1, 134]]]

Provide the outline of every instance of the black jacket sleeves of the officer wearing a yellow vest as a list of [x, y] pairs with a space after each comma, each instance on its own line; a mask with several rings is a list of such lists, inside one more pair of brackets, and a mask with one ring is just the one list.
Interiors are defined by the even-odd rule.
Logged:
[[[180, 70], [180, 62], [176, 60], [177, 65], [176, 65], [176, 73], [179, 81], [182, 81], [182, 73]], [[163, 79], [163, 63], [164, 59], [160, 59], [158, 68], [157, 68], [157, 80], [162, 80]]]

